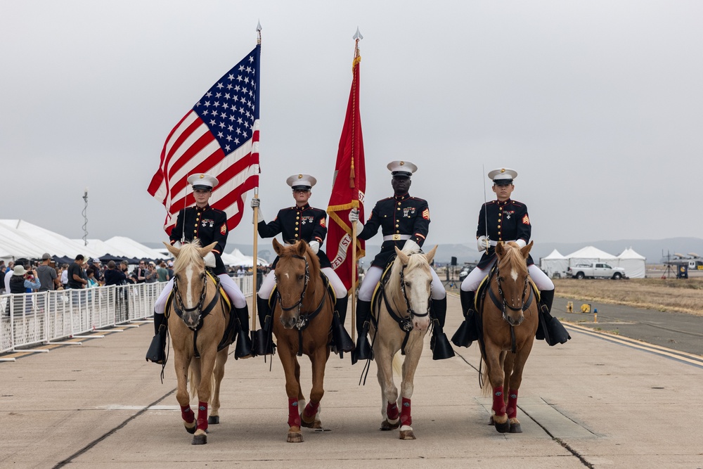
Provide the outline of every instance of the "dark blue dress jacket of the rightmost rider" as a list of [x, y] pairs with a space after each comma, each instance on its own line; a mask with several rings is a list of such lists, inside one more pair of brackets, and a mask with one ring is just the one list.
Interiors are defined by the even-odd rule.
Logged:
[[[486, 220], [487, 217], [487, 220]], [[524, 240], [527, 244], [532, 233], [532, 226], [527, 214], [527, 205], [517, 200], [508, 199], [505, 202], [491, 200], [481, 206], [479, 226], [476, 237], [486, 236], [486, 228], [491, 241]], [[478, 268], [485, 269], [496, 260], [496, 248], [491, 246], [481, 256]], [[534, 264], [532, 257], [527, 258], [527, 265]]]

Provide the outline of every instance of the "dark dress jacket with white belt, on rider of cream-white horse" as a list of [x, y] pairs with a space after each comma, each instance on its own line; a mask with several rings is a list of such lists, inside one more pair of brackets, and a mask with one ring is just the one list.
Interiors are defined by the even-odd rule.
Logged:
[[430, 207], [427, 206], [427, 200], [409, 194], [379, 200], [357, 237], [368, 240], [378, 233], [379, 228], [384, 238], [405, 235], [404, 238], [383, 241], [381, 252], [371, 262], [372, 266], [383, 269], [395, 254], [394, 248], [397, 246], [398, 249], [403, 249], [407, 236], [420, 247], [425, 243], [427, 233], [430, 232]]

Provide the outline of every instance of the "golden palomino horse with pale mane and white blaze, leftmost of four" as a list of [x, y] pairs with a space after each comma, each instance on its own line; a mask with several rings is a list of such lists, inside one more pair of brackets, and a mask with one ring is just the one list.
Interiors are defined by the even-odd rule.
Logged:
[[[202, 260], [217, 243], [200, 248], [200, 242], [195, 240], [180, 249], [164, 244], [176, 257], [173, 300], [166, 311], [178, 378], [176, 399], [181, 404], [183, 425], [188, 433], [195, 434], [193, 444], [206, 444], [207, 424], [219, 423], [220, 383], [229, 349], [226, 345], [217, 351], [229, 323], [230, 309], [221, 297], [217, 276], [206, 273]], [[191, 410], [191, 397], [186, 387], [189, 368], [191, 392], [195, 390], [198, 394], [197, 419]], [[208, 402], [211, 404], [209, 418]]]

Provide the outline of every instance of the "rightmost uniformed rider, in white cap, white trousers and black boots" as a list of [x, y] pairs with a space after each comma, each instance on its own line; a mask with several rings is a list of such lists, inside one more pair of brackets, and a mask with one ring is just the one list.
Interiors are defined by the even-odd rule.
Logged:
[[[520, 248], [524, 248], [529, 243], [532, 233], [527, 205], [510, 198], [512, 191], [515, 190], [513, 181], [517, 177], [517, 171], [498, 168], [489, 172], [488, 176], [493, 181], [496, 200], [484, 203], [479, 211], [476, 230], [477, 248], [479, 252], [484, 251], [484, 253], [477, 266], [461, 282], [459, 293], [467, 332], [463, 341], [456, 340], [454, 343], [463, 347], [470, 346], [471, 342], [478, 340], [480, 336], [477, 315], [474, 311], [474, 297], [479, 283], [496, 262], [496, 244], [515, 241]], [[562, 323], [550, 315], [554, 300], [554, 283], [534, 264], [531, 256], [527, 258], [527, 269], [540, 291], [540, 326], [537, 329], [537, 338], [546, 339], [549, 345], [563, 344], [571, 337]], [[544, 333], [544, 328], [547, 333]]]

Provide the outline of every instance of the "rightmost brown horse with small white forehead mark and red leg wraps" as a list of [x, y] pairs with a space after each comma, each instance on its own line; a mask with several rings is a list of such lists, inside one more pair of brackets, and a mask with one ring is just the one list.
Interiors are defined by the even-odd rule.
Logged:
[[501, 433], [522, 432], [517, 420], [517, 391], [539, 321], [538, 299], [525, 262], [531, 248], [531, 242], [522, 249], [512, 241], [496, 245], [497, 268], [489, 276], [479, 307], [483, 327], [479, 343], [486, 364], [483, 394], [493, 392], [491, 423]]

